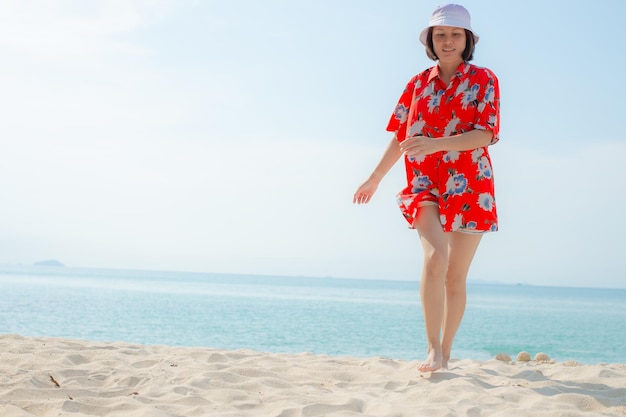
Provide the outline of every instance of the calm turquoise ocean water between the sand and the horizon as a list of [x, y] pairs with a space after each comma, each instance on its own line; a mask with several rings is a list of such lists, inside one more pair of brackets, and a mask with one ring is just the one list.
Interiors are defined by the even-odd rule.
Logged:
[[[419, 283], [0, 267], [0, 334], [422, 359]], [[453, 358], [626, 363], [626, 290], [468, 284]]]

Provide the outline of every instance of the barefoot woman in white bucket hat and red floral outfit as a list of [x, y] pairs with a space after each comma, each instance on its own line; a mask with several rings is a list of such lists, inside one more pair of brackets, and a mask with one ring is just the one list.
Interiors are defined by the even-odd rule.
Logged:
[[447, 368], [465, 312], [466, 278], [482, 234], [498, 229], [488, 145], [499, 139], [498, 79], [469, 63], [478, 42], [469, 12], [440, 6], [420, 33], [437, 62], [407, 84], [387, 130], [394, 137], [354, 194], [368, 203], [404, 155], [408, 185], [398, 205], [424, 253], [420, 295], [428, 356], [422, 372]]

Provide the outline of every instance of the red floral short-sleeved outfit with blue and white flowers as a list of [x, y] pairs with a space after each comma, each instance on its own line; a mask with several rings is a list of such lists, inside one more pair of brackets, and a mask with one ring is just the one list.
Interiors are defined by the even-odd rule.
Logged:
[[[492, 131], [499, 140], [498, 79], [487, 68], [467, 62], [446, 86], [434, 66], [416, 75], [398, 101], [387, 130], [398, 141], [407, 137], [442, 138], [473, 129]], [[493, 171], [487, 147], [405, 156], [407, 187], [398, 205], [413, 227], [419, 208], [438, 205], [445, 232], [481, 233], [498, 230]]]

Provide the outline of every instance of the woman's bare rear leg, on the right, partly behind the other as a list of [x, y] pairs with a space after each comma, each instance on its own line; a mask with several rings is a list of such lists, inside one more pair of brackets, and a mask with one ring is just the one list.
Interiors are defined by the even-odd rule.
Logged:
[[465, 313], [467, 273], [482, 237], [480, 234], [460, 232], [453, 232], [449, 235], [449, 261], [446, 271], [443, 338], [441, 342], [442, 367], [444, 368], [448, 366], [452, 342]]

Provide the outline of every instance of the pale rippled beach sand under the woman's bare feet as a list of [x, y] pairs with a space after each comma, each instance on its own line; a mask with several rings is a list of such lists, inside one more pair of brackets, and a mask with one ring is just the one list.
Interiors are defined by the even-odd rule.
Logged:
[[626, 365], [416, 366], [5, 335], [0, 416], [626, 416]]

